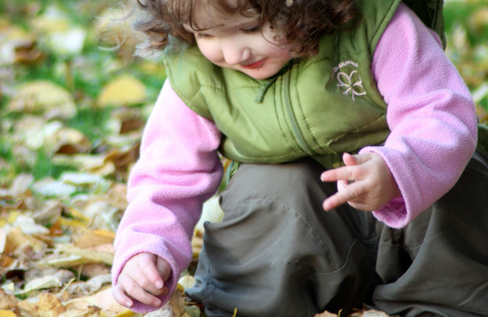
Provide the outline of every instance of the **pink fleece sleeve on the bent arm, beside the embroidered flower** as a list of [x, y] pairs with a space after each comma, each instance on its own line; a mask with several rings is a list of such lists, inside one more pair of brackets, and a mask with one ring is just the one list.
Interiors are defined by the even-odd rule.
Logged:
[[381, 155], [401, 198], [374, 216], [407, 225], [457, 181], [476, 148], [476, 112], [468, 88], [439, 38], [401, 4], [375, 50], [372, 71], [388, 104], [391, 134]]

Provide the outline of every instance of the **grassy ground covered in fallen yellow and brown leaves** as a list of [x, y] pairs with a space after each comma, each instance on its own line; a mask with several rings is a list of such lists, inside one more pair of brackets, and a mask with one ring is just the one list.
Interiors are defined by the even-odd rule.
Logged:
[[[486, 4], [453, 1], [445, 12], [447, 54], [482, 122]], [[0, 317], [141, 315], [111, 296], [112, 243], [165, 73], [157, 59], [133, 57], [138, 36], [130, 21], [116, 22], [127, 12], [111, 1], [0, 0]], [[217, 198], [203, 214], [219, 221]], [[170, 302], [147, 316], [203, 315], [182, 293], [194, 282], [201, 223], [192, 266]], [[387, 315], [365, 308], [351, 316]]]

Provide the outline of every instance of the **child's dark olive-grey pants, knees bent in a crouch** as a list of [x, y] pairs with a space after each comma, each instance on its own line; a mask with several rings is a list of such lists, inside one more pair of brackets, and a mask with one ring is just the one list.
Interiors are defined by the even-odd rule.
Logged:
[[194, 287], [207, 316], [488, 315], [488, 165], [475, 154], [443, 198], [403, 229], [349, 205], [325, 212], [335, 183], [312, 159], [243, 164], [206, 223]]

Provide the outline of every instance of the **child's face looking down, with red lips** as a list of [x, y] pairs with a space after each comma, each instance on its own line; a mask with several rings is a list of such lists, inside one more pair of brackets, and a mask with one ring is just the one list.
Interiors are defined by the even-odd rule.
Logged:
[[235, 15], [199, 14], [195, 34], [203, 56], [217, 66], [235, 69], [254, 79], [266, 79], [278, 73], [291, 59], [289, 50], [273, 40], [275, 33], [266, 23], [259, 28], [257, 18]]

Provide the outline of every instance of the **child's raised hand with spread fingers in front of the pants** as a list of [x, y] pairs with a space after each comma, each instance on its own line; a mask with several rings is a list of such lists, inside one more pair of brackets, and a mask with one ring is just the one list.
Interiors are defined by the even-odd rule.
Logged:
[[356, 209], [373, 211], [401, 196], [380, 155], [373, 152], [361, 155], [344, 153], [343, 160], [346, 166], [327, 170], [321, 175], [322, 181], [337, 181], [337, 193], [325, 199], [325, 210], [347, 202]]

